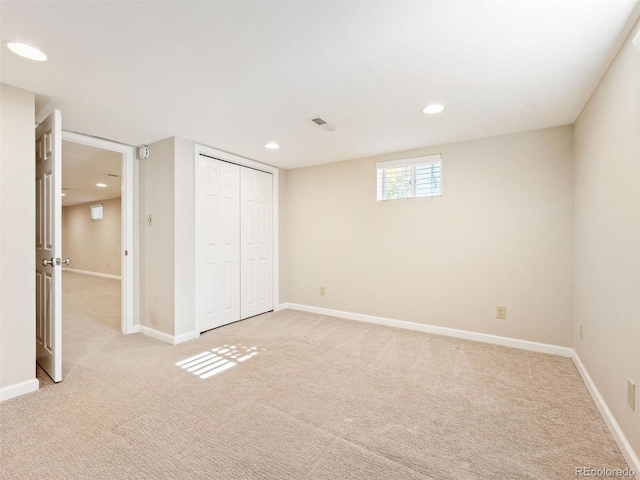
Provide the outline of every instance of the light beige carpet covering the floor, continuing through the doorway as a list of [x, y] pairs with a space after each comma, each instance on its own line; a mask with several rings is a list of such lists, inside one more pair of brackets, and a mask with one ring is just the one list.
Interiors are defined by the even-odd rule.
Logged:
[[[170, 346], [118, 332], [119, 282], [65, 273], [64, 288], [64, 380], [0, 404], [3, 479], [627, 467], [566, 358], [288, 310]], [[176, 366], [225, 345], [257, 354], [207, 379]]]

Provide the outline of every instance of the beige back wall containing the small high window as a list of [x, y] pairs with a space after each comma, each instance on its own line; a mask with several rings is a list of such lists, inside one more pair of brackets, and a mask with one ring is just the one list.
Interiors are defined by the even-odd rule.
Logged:
[[[378, 205], [377, 161], [432, 153], [441, 198]], [[289, 170], [286, 300], [569, 346], [571, 159], [564, 126]]]

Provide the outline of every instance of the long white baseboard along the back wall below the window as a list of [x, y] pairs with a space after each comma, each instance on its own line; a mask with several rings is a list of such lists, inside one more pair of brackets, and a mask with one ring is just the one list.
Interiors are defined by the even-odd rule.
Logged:
[[475, 342], [491, 343], [493, 345], [502, 345], [503, 347], [513, 347], [522, 350], [530, 350], [532, 352], [548, 353], [551, 355], [559, 355], [561, 357], [571, 357], [573, 349], [567, 347], [559, 347], [547, 343], [530, 342], [528, 340], [519, 340], [517, 338], [500, 337], [487, 333], [470, 332], [467, 330], [457, 330], [455, 328], [438, 327], [436, 325], [426, 325], [423, 323], [407, 322], [404, 320], [394, 320], [392, 318], [375, 317], [372, 315], [363, 315], [361, 313], [343, 312], [341, 310], [331, 310], [329, 308], [312, 307], [308, 305], [300, 305], [297, 303], [283, 303], [278, 305], [277, 310], [300, 310], [302, 312], [318, 313], [329, 317], [346, 318], [347, 320], [357, 320], [359, 322], [375, 323], [377, 325], [385, 325], [387, 327], [403, 328], [405, 330], [415, 330], [424, 333], [433, 333], [436, 335], [445, 335], [447, 337], [462, 338]]

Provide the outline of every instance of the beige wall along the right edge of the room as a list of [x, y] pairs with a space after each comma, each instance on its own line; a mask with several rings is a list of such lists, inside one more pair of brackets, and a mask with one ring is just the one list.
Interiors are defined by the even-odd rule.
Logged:
[[640, 385], [640, 54], [631, 38], [575, 124], [572, 337], [640, 456], [640, 401], [635, 412], [626, 402], [627, 378]]

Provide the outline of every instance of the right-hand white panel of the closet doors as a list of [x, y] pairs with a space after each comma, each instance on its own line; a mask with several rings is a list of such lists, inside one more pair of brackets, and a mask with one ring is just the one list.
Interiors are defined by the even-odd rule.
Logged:
[[240, 318], [273, 310], [273, 177], [240, 171]]

